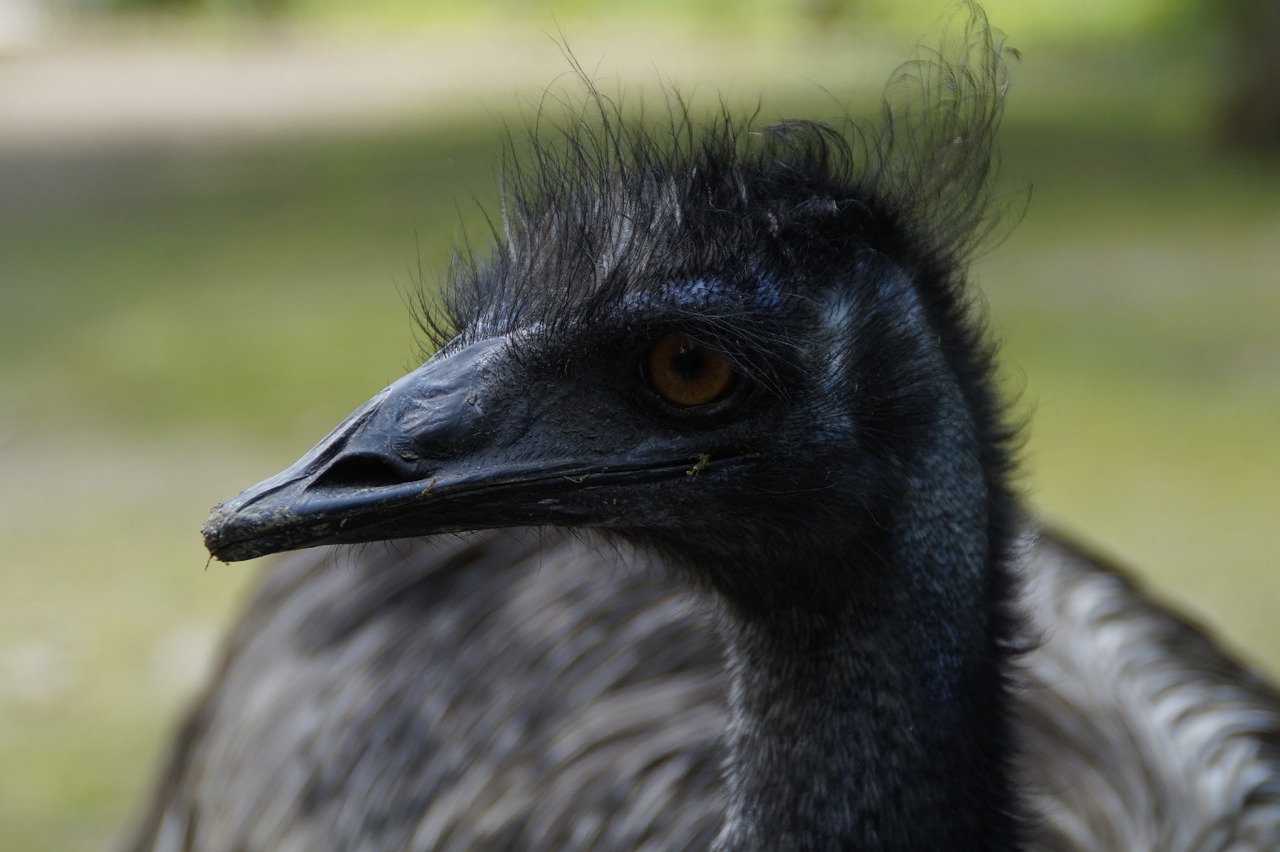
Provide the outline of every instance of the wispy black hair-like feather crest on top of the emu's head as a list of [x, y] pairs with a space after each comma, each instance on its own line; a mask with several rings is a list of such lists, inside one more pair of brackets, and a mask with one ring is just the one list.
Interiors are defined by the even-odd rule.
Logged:
[[[460, 251], [433, 347], [591, 324], [672, 281], [758, 278], [804, 253], [873, 251], [964, 302], [989, 215], [992, 139], [1007, 88], [1002, 36], [973, 5], [887, 87], [877, 122], [783, 120], [723, 104], [707, 120], [668, 90], [653, 120], [602, 93], [570, 56], [581, 104], [508, 134], [490, 249]], [[756, 281], [758, 283], [758, 281]], [[927, 298], [925, 301], [934, 301]], [[429, 302], [429, 299], [424, 299]]]

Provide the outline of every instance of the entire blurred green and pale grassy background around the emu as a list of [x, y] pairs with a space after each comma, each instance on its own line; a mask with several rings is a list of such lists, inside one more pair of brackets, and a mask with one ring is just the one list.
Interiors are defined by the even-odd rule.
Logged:
[[[1275, 674], [1280, 164], [1228, 143], [1238, 29], [987, 8], [1030, 203], [974, 272], [1025, 490]], [[548, 33], [609, 86], [824, 118], [943, 10], [0, 0], [0, 848], [101, 848], [136, 810], [256, 572], [200, 525], [412, 366], [420, 265], [563, 83]]]

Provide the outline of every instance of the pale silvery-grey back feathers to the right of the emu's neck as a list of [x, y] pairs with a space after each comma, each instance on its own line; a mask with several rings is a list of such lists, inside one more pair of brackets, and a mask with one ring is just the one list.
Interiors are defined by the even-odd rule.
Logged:
[[1043, 848], [1280, 848], [1275, 690], [1079, 548], [1044, 537], [1027, 565]]

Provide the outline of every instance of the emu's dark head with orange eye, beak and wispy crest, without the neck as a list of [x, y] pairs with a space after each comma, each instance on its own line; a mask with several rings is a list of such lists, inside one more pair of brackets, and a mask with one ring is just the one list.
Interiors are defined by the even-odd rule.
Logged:
[[904, 67], [878, 128], [698, 125], [678, 99], [654, 127], [588, 84], [508, 157], [495, 248], [426, 319], [438, 352], [218, 507], [210, 551], [571, 526], [732, 596], [742, 564], [847, 546], [831, 530], [891, 514], [928, 435], [998, 443], [964, 266], [1004, 88], [984, 22]]

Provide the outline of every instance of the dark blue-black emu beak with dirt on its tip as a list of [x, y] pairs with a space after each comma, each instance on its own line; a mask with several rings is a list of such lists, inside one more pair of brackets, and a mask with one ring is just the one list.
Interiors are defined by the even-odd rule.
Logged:
[[215, 507], [210, 554], [239, 562], [323, 544], [607, 525], [626, 512], [627, 489], [603, 486], [687, 478], [678, 441], [593, 444], [543, 416], [576, 407], [495, 379], [504, 356], [504, 339], [483, 340], [379, 393], [292, 467]]

